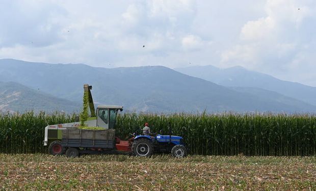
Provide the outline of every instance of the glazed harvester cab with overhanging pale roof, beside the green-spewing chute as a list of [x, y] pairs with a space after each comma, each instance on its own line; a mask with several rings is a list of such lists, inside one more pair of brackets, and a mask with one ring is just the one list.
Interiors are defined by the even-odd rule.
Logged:
[[113, 129], [118, 111], [123, 111], [123, 106], [98, 105], [96, 108], [96, 126], [106, 129]]

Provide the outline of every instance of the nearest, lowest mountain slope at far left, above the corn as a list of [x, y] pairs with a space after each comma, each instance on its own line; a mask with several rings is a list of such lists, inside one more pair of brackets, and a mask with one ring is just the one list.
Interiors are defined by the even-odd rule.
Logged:
[[81, 104], [56, 98], [14, 82], [0, 82], [0, 111], [80, 111]]

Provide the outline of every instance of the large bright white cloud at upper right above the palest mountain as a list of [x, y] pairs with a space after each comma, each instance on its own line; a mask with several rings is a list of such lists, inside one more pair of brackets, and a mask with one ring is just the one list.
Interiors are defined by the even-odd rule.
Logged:
[[314, 1], [268, 0], [266, 16], [244, 24], [239, 41], [222, 52], [221, 64], [242, 65], [283, 79], [302, 80], [300, 72], [308, 73], [303, 68], [310, 68], [313, 61], [298, 58], [302, 54], [310, 57], [303, 47], [315, 49], [311, 41], [316, 38], [316, 12], [311, 10], [316, 10]]

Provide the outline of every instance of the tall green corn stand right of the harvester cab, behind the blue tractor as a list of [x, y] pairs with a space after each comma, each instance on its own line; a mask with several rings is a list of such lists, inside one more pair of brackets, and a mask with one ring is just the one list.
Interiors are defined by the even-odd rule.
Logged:
[[309, 115], [137, 115], [118, 117], [124, 137], [148, 122], [152, 132], [184, 138], [191, 154], [314, 155], [316, 117]]

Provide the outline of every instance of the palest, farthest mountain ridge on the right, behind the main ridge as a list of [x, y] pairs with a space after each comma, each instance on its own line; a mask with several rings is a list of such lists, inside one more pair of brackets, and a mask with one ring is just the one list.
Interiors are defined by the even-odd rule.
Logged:
[[212, 81], [222, 86], [254, 87], [274, 91], [316, 105], [316, 87], [277, 79], [271, 75], [236, 66], [219, 69], [214, 66], [192, 66], [175, 70]]

